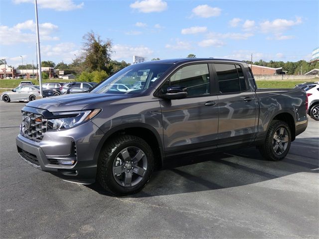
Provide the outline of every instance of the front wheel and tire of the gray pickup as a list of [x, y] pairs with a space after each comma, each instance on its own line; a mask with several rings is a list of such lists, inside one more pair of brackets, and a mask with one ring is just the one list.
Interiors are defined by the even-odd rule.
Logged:
[[150, 145], [134, 135], [121, 135], [109, 140], [98, 161], [97, 179], [115, 195], [141, 191], [149, 182], [154, 168]]

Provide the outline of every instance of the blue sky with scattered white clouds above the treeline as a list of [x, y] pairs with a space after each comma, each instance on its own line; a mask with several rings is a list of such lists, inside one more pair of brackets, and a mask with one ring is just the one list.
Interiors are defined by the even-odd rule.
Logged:
[[[236, 60], [310, 60], [319, 46], [318, 0], [37, 0], [41, 61], [71, 63], [89, 31], [111, 58], [188, 54]], [[0, 0], [0, 59], [36, 62], [34, 0]]]

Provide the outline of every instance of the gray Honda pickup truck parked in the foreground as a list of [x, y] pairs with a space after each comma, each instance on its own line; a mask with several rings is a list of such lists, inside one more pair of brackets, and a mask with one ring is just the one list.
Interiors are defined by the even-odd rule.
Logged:
[[159, 60], [88, 93], [29, 102], [16, 145], [33, 167], [127, 195], [172, 158], [257, 146], [281, 160], [307, 127], [306, 108], [304, 90], [258, 90], [241, 61]]

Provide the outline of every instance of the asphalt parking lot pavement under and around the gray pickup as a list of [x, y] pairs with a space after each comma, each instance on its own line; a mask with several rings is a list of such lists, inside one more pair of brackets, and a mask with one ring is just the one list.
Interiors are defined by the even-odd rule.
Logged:
[[0, 102], [1, 239], [319, 238], [313, 119], [283, 161], [255, 148], [177, 158], [141, 193], [114, 197], [23, 162], [15, 146], [23, 106]]

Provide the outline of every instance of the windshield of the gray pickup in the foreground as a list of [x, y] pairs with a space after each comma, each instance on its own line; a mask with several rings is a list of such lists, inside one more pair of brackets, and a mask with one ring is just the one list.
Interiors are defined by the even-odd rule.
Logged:
[[154, 63], [128, 66], [102, 82], [91, 93], [140, 93], [152, 86], [171, 66], [172, 64]]

